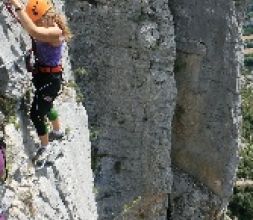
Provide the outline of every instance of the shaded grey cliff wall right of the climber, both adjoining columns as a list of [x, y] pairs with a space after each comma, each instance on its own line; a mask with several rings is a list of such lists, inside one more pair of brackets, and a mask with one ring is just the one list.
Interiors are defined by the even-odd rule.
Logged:
[[221, 217], [238, 163], [235, 4], [67, 1], [100, 219]]

